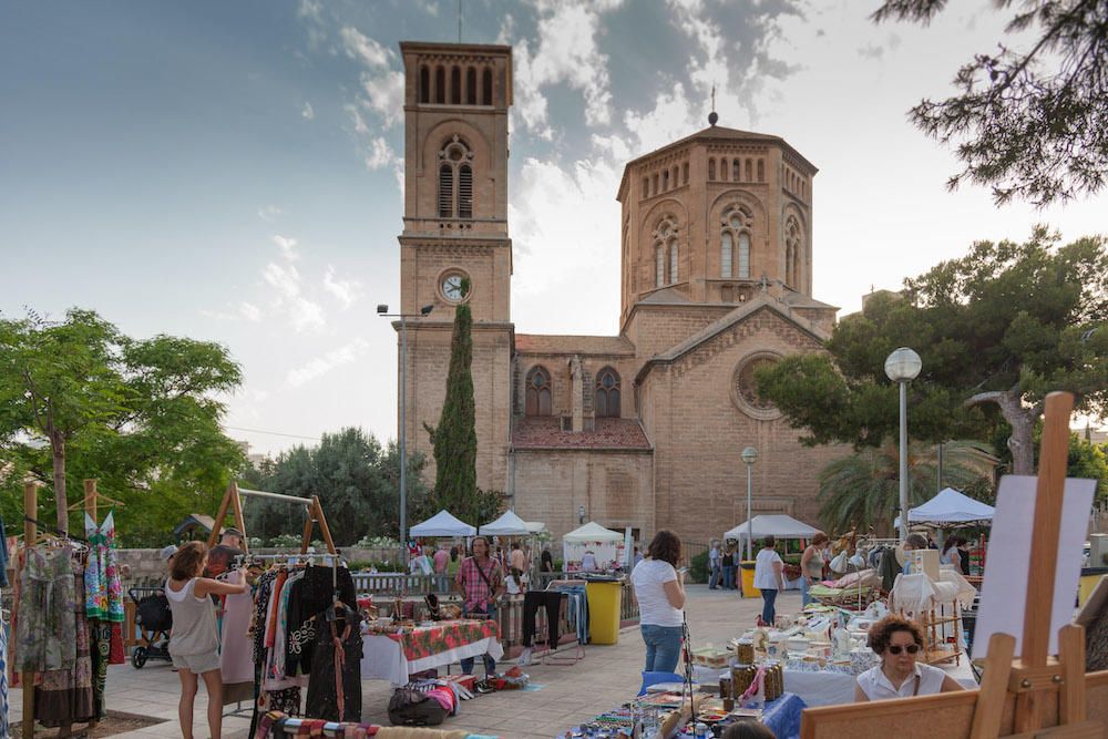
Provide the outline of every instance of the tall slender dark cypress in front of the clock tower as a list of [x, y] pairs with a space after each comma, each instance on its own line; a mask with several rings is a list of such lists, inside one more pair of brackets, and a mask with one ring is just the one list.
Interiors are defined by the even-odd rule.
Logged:
[[[468, 294], [469, 281], [462, 284]], [[499, 514], [503, 496], [478, 489], [478, 431], [473, 401], [473, 316], [466, 302], [454, 309], [450, 339], [447, 397], [439, 425], [423, 424], [434, 453], [434, 486], [424, 512], [445, 509], [470, 524], [485, 521], [490, 510]]]

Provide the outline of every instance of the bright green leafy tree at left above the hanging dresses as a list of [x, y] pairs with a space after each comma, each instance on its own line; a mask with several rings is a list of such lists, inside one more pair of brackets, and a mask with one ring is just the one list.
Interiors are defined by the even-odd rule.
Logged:
[[127, 503], [116, 512], [126, 541], [155, 527], [164, 541], [174, 519], [212, 507], [242, 465], [218, 400], [240, 379], [218, 345], [133, 339], [93, 311], [0, 318], [0, 485], [16, 493], [25, 476], [52, 483], [40, 516], [53, 503], [68, 530], [66, 486], [96, 478]]

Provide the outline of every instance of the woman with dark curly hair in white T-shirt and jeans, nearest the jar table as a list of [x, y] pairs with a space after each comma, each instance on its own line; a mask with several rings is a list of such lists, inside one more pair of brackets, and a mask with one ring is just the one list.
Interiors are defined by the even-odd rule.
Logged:
[[639, 630], [646, 644], [647, 673], [673, 673], [681, 654], [681, 608], [685, 607], [685, 573], [677, 572], [681, 541], [663, 528], [654, 535], [647, 557], [630, 573], [638, 601]]

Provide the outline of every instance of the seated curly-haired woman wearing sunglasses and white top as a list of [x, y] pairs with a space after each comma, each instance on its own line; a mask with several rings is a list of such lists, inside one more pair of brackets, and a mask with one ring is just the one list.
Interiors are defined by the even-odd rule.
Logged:
[[937, 667], [916, 661], [923, 650], [923, 633], [914, 622], [885, 616], [870, 627], [870, 648], [881, 657], [881, 664], [858, 676], [855, 702], [963, 689]]

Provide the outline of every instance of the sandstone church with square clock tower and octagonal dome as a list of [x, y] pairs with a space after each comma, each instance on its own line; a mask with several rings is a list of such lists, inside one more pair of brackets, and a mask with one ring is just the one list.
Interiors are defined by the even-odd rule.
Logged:
[[[617, 336], [512, 322], [512, 50], [403, 42], [409, 453], [434, 460], [454, 307], [473, 315], [478, 484], [555, 536], [583, 521], [706, 542], [753, 513], [818, 524], [820, 469], [753, 373], [818, 351], [837, 308], [812, 297], [815, 167], [780, 136], [711, 125], [624, 167]], [[583, 276], [583, 278], [587, 278]], [[471, 289], [463, 295], [461, 285]], [[397, 325], [399, 329], [399, 325]], [[479, 525], [483, 522], [468, 522]]]

